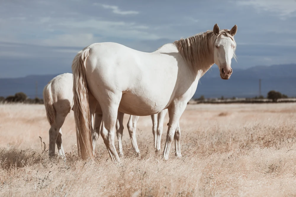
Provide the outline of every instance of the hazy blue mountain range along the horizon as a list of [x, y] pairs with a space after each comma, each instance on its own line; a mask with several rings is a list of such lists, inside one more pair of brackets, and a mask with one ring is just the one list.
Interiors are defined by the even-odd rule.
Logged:
[[[214, 65], [201, 79], [194, 98], [204, 95], [209, 97], [255, 97], [259, 95], [259, 79], [261, 93], [267, 95], [276, 90], [288, 96], [296, 96], [296, 64], [255, 66], [248, 69], [232, 68], [229, 80], [220, 78], [218, 66]], [[44, 86], [58, 74], [30, 75], [21, 78], [0, 79], [0, 96], [7, 97], [16, 92], [24, 92], [30, 98], [42, 98]]]

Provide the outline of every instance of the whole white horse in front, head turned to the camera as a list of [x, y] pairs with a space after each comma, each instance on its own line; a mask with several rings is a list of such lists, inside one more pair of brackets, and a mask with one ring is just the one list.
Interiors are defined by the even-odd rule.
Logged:
[[231, 76], [236, 32], [237, 25], [231, 30], [220, 30], [215, 24], [212, 31], [165, 44], [152, 53], [118, 43], [94, 43], [79, 51], [72, 71], [78, 153], [82, 159], [94, 158], [88, 93], [102, 109], [101, 135], [115, 162], [120, 161], [114, 146], [118, 111], [144, 116], [168, 109], [168, 133], [163, 152], [164, 159], [168, 159], [173, 138], [179, 145], [178, 122], [200, 77], [214, 63], [222, 79]]

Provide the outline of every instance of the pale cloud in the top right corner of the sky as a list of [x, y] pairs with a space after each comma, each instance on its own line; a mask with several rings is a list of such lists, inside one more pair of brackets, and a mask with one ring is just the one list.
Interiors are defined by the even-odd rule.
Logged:
[[282, 18], [295, 16], [296, 13], [295, 0], [242, 0], [236, 3], [240, 6], [253, 6], [258, 11], [274, 12]]

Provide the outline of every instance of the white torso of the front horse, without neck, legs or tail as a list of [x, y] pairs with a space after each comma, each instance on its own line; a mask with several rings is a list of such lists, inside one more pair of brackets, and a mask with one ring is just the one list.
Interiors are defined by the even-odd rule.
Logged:
[[[173, 100], [187, 103], [197, 87], [199, 77], [186, 68], [175, 45], [164, 45], [153, 53], [136, 51], [117, 43], [95, 43], [86, 50], [89, 50], [86, 59], [89, 90], [96, 98], [100, 98], [101, 91], [105, 94], [104, 89], [114, 94], [122, 92], [118, 108], [122, 113], [137, 116], [159, 113]], [[191, 83], [178, 76], [187, 76]], [[193, 88], [187, 88], [186, 92], [185, 88], [178, 88], [190, 87], [192, 82]]]

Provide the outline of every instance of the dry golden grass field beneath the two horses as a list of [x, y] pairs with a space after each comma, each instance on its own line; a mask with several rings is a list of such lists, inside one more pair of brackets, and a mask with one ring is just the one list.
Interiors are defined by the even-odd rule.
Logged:
[[[44, 106], [0, 105], [0, 196], [296, 196], [295, 103], [188, 105], [182, 157], [173, 142], [168, 161], [154, 151], [150, 116], [139, 118], [136, 157], [128, 118], [119, 164], [101, 137], [96, 160], [77, 157], [72, 111], [62, 127], [67, 160], [49, 160]], [[162, 150], [167, 123], [168, 114]]]

